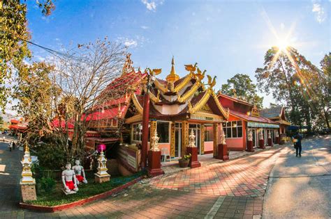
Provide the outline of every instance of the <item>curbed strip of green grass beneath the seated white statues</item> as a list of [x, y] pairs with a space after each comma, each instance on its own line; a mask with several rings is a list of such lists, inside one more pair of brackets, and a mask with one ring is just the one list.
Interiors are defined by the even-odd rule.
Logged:
[[52, 192], [38, 191], [37, 200], [27, 201], [27, 204], [38, 204], [42, 206], [56, 206], [60, 204], [68, 204], [78, 200], [84, 200], [88, 197], [105, 193], [118, 186], [122, 186], [133, 179], [145, 175], [145, 172], [138, 172], [129, 177], [110, 177], [110, 181], [103, 184], [94, 183], [94, 178], [87, 178], [88, 184], [80, 184], [78, 186], [78, 193], [65, 195], [61, 190], [63, 188], [62, 182], [57, 181], [56, 188]]

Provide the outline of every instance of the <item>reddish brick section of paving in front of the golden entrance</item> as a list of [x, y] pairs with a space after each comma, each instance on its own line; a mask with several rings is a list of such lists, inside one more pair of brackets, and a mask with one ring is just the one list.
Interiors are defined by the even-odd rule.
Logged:
[[253, 154], [226, 163], [214, 163], [202, 168], [177, 172], [169, 177], [156, 177], [156, 188], [194, 191], [212, 195], [264, 195], [269, 172], [278, 158], [278, 150]]

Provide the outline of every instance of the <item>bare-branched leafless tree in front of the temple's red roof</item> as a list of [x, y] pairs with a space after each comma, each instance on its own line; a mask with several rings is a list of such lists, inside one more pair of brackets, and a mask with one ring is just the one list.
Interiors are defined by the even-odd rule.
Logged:
[[78, 48], [71, 49], [66, 58], [54, 58], [56, 67], [52, 80], [61, 89], [57, 117], [66, 124], [64, 128], [60, 126], [59, 131], [68, 135], [68, 124], [73, 125], [72, 145], [66, 146], [68, 160], [82, 153], [84, 134], [89, 126], [87, 117], [98, 108], [98, 104], [123, 97], [125, 90], [108, 90], [106, 95], [101, 95], [101, 92], [122, 74], [125, 52], [126, 47], [122, 44], [105, 38], [78, 44]]

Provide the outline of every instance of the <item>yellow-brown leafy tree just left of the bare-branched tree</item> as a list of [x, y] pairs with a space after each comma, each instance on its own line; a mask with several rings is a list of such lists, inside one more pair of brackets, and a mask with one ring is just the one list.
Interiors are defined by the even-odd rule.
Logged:
[[47, 63], [33, 63], [24, 67], [24, 72], [17, 79], [13, 97], [18, 100], [15, 109], [34, 131], [50, 132], [50, 122], [55, 117], [54, 99], [59, 97], [61, 90], [50, 79], [54, 66]]

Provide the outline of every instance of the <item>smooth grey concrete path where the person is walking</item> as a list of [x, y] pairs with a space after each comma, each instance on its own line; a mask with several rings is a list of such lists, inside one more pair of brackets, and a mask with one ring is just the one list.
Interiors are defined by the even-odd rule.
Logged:
[[331, 136], [281, 150], [265, 194], [263, 218], [331, 218]]

